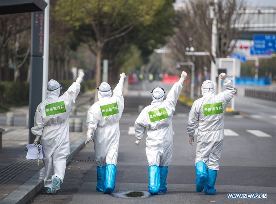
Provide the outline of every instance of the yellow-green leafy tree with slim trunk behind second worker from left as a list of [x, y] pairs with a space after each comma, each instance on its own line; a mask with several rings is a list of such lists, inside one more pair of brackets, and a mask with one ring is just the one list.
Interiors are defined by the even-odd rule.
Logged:
[[[73, 28], [83, 30], [79, 38], [89, 45], [96, 55], [96, 86], [101, 82], [101, 59], [103, 48], [111, 40], [128, 34], [137, 25], [147, 26], [166, 1], [114, 0], [114, 1], [58, 1], [56, 10], [60, 19]], [[97, 93], [95, 92], [95, 100]]]

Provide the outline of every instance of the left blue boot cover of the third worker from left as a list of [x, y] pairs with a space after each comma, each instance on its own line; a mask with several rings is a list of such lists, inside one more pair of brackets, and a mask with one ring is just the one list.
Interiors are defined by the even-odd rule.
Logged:
[[157, 165], [149, 167], [149, 193], [157, 195], [160, 188], [160, 169]]

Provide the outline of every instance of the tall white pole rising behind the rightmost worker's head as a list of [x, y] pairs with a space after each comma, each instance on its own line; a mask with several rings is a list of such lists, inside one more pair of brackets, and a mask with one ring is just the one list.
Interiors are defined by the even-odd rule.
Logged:
[[[212, 55], [216, 60], [216, 41], [217, 41], [217, 29], [216, 29], [216, 17], [215, 17], [215, 12], [214, 9], [216, 9], [216, 4], [217, 0], [214, 0], [214, 8], [210, 9], [210, 16], [213, 19], [212, 21]], [[214, 83], [214, 89], [215, 89], [215, 94], [216, 94], [216, 64], [212, 60], [211, 61], [211, 81]]]

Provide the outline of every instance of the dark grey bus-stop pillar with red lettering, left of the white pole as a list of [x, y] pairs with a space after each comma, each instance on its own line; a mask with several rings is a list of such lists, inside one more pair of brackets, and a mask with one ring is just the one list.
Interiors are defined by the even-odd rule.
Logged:
[[29, 143], [35, 135], [31, 128], [34, 125], [34, 114], [42, 101], [43, 81], [43, 46], [44, 46], [44, 11], [32, 12], [31, 27], [31, 70], [29, 89]]

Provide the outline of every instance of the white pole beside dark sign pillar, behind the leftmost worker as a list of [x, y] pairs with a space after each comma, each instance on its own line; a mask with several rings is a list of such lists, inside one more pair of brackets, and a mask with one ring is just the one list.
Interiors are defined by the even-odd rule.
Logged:
[[45, 0], [47, 6], [45, 8], [44, 19], [44, 56], [43, 56], [43, 82], [42, 82], [42, 101], [47, 98], [47, 83], [48, 83], [48, 66], [49, 66], [49, 17], [50, 17], [50, 2]]

